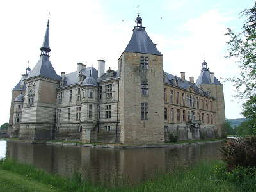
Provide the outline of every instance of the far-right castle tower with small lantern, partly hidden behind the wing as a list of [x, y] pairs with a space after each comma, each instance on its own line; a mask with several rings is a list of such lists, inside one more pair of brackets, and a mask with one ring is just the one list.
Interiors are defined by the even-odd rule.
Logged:
[[210, 96], [216, 99], [214, 102], [214, 109], [216, 111], [215, 123], [218, 135], [221, 137], [224, 136], [225, 132], [223, 132], [223, 124], [225, 124], [225, 102], [223, 84], [218, 81], [214, 76], [214, 73], [210, 72], [205, 61], [202, 63], [202, 70], [195, 84], [204, 90], [208, 90]]

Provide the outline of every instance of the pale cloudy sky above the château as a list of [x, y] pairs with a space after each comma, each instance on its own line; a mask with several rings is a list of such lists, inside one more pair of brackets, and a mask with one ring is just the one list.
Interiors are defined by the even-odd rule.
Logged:
[[[224, 86], [226, 118], [241, 118], [237, 90], [221, 78], [237, 76], [236, 60], [228, 55], [227, 28], [241, 32], [245, 18], [239, 13], [252, 8], [252, 0], [170, 1], [1, 1], [0, 58], [2, 74], [0, 125], [8, 122], [12, 89], [26, 68], [40, 58], [50, 12], [50, 60], [56, 72], [74, 72], [77, 63], [117, 69], [117, 60], [127, 46], [139, 5], [143, 26], [163, 54], [165, 72], [186, 79], [207, 67]], [[29, 64], [28, 64], [29, 61]]]

